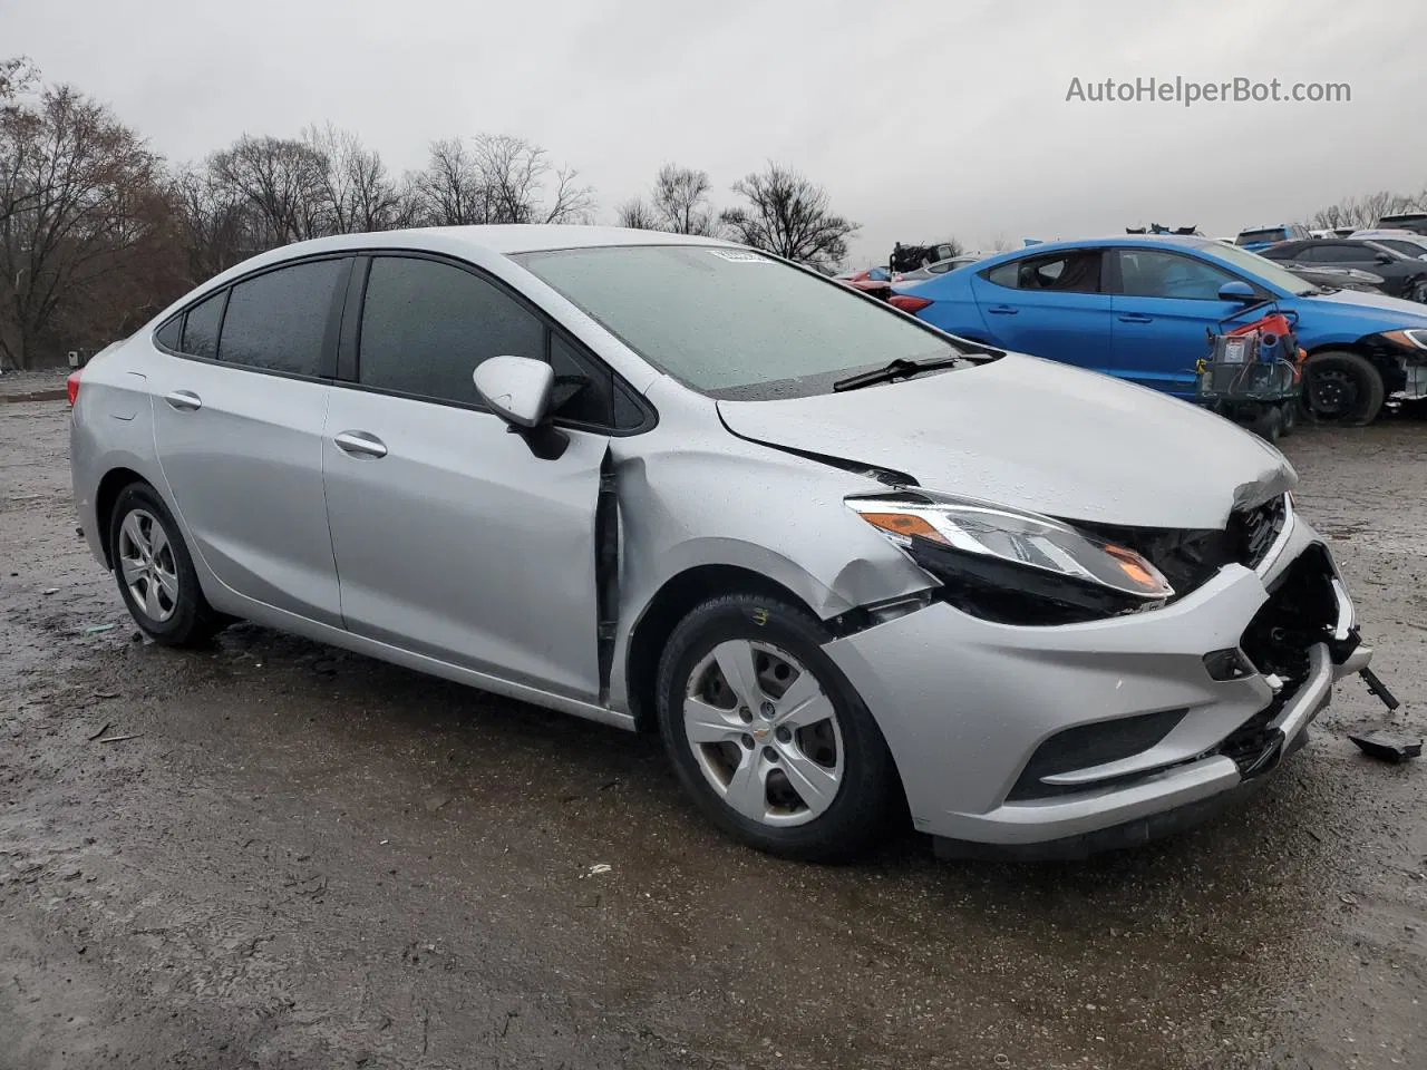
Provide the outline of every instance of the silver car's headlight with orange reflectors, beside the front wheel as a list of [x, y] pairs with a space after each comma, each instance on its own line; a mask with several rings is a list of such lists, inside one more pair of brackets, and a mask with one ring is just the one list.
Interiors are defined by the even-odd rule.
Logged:
[[1066, 623], [1162, 605], [1174, 593], [1134, 551], [1049, 516], [926, 491], [848, 505], [977, 616]]

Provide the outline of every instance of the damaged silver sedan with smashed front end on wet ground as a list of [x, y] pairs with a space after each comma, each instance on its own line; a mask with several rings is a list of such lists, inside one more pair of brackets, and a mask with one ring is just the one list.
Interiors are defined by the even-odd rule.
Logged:
[[625, 729], [763, 850], [1133, 843], [1363, 671], [1267, 444], [775, 257], [595, 227], [255, 257], [71, 381], [144, 632], [247, 619]]

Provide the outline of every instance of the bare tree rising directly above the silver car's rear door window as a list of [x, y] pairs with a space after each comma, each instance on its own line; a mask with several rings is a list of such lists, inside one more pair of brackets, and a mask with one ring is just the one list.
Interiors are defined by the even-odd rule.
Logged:
[[270, 247], [334, 230], [327, 158], [305, 141], [244, 134], [208, 157], [208, 168], [254, 211]]

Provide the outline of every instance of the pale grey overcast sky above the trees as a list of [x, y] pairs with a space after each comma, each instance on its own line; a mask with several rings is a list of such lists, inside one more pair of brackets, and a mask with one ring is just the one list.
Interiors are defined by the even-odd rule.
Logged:
[[[599, 221], [659, 164], [716, 200], [765, 160], [862, 224], [856, 263], [949, 234], [1206, 233], [1427, 185], [1417, 0], [0, 0], [0, 56], [108, 101], [174, 160], [310, 121], [401, 171], [528, 137]], [[1077, 103], [1072, 78], [1351, 86], [1350, 103]]]

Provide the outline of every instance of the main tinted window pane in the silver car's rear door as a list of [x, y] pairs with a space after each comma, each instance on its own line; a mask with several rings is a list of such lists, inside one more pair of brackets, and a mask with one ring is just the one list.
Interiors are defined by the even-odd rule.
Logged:
[[250, 368], [321, 375], [327, 320], [344, 267], [341, 260], [318, 260], [238, 282], [223, 318], [218, 357]]

